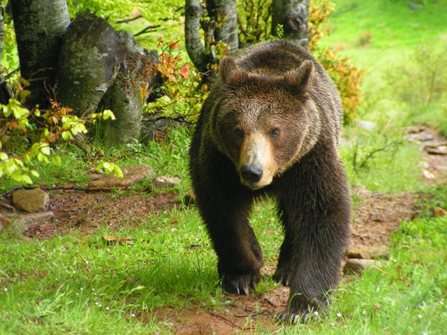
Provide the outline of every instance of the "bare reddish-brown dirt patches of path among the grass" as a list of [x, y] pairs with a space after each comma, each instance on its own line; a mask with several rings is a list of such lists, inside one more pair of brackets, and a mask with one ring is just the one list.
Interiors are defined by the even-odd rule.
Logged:
[[[427, 145], [442, 142], [437, 134], [426, 128], [409, 130], [408, 139], [418, 142], [423, 151], [421, 174], [427, 182], [445, 184], [447, 155], [427, 154]], [[352, 188], [354, 198], [352, 239], [349, 257], [387, 258], [390, 234], [400, 227], [401, 221], [410, 221], [423, 209], [427, 194], [373, 193], [362, 186]], [[179, 195], [173, 191], [142, 197], [123, 194], [111, 197], [107, 193], [82, 191], [53, 191], [50, 210], [59, 220], [57, 226], [41, 225], [27, 230], [29, 238], [45, 239], [78, 230], [80, 234], [93, 234], [108, 226], [113, 232], [126, 217], [132, 225], [145, 222], [148, 213], [157, 214], [173, 209]], [[94, 204], [101, 204], [95, 206]], [[270, 276], [273, 267], [265, 267], [263, 274]], [[353, 280], [345, 275], [344, 281]], [[274, 315], [281, 312], [288, 298], [288, 288], [277, 287], [260, 296], [228, 295], [225, 310], [205, 311], [200, 306], [188, 309], [165, 308], [154, 311], [157, 320], [166, 320], [175, 334], [249, 334], [252, 327], [263, 325], [276, 329]]]

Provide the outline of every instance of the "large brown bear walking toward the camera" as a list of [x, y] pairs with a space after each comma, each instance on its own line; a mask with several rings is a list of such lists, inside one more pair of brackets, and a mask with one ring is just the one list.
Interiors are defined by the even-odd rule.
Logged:
[[196, 124], [191, 179], [223, 290], [247, 295], [260, 280], [248, 216], [256, 198], [277, 200], [285, 237], [273, 278], [291, 287], [281, 320], [305, 320], [339, 281], [351, 220], [341, 128], [335, 85], [286, 40], [223, 58]]

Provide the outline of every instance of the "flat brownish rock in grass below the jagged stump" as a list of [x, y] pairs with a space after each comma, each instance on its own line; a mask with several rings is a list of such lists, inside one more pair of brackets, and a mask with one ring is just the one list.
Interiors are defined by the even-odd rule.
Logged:
[[121, 168], [123, 178], [115, 177], [113, 174], [103, 175], [99, 179], [90, 181], [89, 187], [131, 187], [143, 179], [154, 178], [154, 170], [149, 165], [140, 164], [125, 166]]

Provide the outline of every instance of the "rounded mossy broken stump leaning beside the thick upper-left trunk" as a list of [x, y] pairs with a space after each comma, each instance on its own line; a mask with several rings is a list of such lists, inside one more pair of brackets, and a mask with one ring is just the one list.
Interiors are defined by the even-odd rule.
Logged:
[[96, 111], [126, 59], [124, 41], [90, 13], [73, 20], [64, 35], [57, 69], [57, 101], [78, 116]]

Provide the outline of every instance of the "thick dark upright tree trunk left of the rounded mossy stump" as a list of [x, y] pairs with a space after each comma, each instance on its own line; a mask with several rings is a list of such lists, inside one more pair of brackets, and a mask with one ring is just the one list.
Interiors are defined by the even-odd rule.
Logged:
[[29, 80], [26, 105], [45, 105], [54, 86], [61, 36], [70, 24], [66, 0], [10, 0], [20, 73]]

